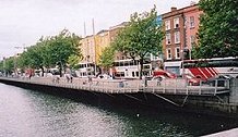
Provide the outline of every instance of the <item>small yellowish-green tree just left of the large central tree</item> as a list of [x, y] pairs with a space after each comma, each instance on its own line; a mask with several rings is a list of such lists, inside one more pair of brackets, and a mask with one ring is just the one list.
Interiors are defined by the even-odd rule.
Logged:
[[99, 58], [99, 65], [105, 70], [108, 70], [109, 67], [111, 67], [114, 65], [114, 54], [115, 54], [114, 47], [111, 46], [106, 47], [103, 50], [103, 53]]

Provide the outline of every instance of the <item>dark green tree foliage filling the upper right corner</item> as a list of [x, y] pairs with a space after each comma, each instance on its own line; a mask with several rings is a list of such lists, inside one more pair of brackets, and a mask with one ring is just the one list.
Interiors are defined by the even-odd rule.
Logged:
[[195, 58], [238, 55], [238, 1], [200, 0], [204, 14], [200, 20], [199, 47]]

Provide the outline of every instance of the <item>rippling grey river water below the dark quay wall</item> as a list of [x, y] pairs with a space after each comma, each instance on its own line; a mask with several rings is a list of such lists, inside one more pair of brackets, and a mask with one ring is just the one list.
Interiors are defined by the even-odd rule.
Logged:
[[85, 104], [0, 84], [0, 137], [183, 137], [236, 127], [233, 119]]

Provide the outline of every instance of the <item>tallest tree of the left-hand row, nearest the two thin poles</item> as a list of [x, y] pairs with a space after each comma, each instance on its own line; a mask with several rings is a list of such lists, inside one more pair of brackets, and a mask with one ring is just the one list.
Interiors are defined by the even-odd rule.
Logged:
[[60, 76], [62, 76], [62, 68], [67, 65], [67, 62], [71, 55], [82, 57], [80, 51], [81, 38], [69, 30], [63, 29], [58, 36], [47, 39], [47, 48], [45, 52], [48, 65], [58, 65]]

